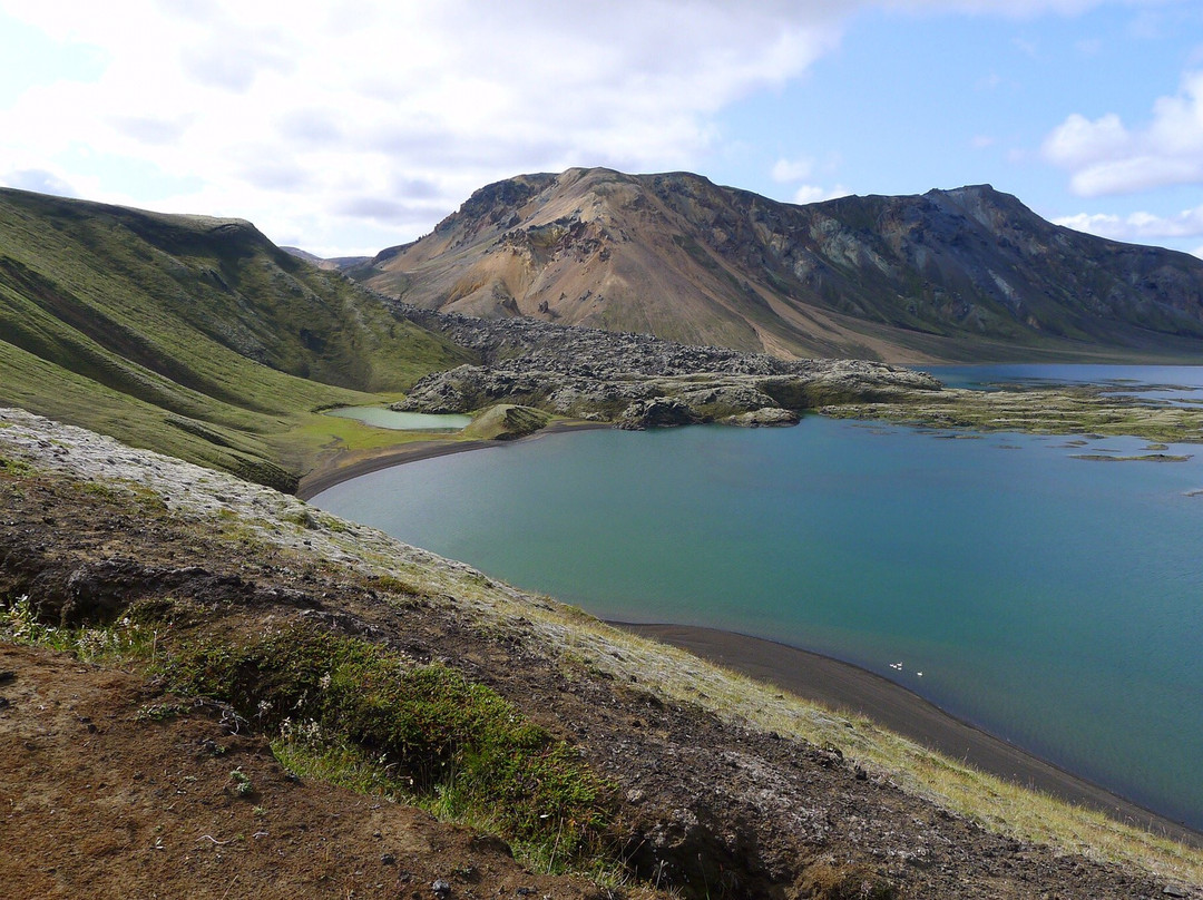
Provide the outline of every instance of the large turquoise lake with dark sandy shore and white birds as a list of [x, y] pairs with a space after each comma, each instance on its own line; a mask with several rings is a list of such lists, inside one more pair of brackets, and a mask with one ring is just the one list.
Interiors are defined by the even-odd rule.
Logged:
[[588, 431], [313, 502], [603, 617], [857, 663], [1203, 828], [1203, 445], [1077, 443], [817, 416]]

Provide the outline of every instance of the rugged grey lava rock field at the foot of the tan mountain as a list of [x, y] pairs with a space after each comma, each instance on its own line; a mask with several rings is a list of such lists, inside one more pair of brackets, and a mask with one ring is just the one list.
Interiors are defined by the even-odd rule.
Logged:
[[421, 379], [396, 404], [403, 410], [467, 413], [516, 403], [624, 428], [794, 425], [806, 409], [941, 389], [921, 372], [865, 360], [787, 361], [647, 334], [396, 308], [482, 359]]

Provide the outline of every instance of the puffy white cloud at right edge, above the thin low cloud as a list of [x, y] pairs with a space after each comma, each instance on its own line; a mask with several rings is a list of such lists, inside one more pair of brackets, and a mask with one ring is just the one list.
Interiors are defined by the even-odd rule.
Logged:
[[1069, 116], [1045, 138], [1044, 158], [1069, 170], [1075, 194], [1094, 197], [1203, 183], [1203, 71], [1174, 96], [1160, 97], [1151, 120], [1128, 129], [1115, 113]]

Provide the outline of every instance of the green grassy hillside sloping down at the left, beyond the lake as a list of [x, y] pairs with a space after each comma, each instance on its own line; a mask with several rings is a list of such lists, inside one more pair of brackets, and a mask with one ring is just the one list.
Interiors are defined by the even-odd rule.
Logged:
[[468, 360], [249, 223], [0, 190], [2, 404], [288, 487], [314, 410]]

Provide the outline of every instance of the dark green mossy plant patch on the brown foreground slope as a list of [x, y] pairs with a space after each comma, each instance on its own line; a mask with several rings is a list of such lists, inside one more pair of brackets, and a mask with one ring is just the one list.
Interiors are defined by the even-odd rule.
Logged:
[[563, 741], [443, 665], [306, 627], [171, 658], [171, 689], [233, 705], [278, 733], [282, 762], [358, 789], [404, 793], [561, 863], [597, 852], [610, 788]]

